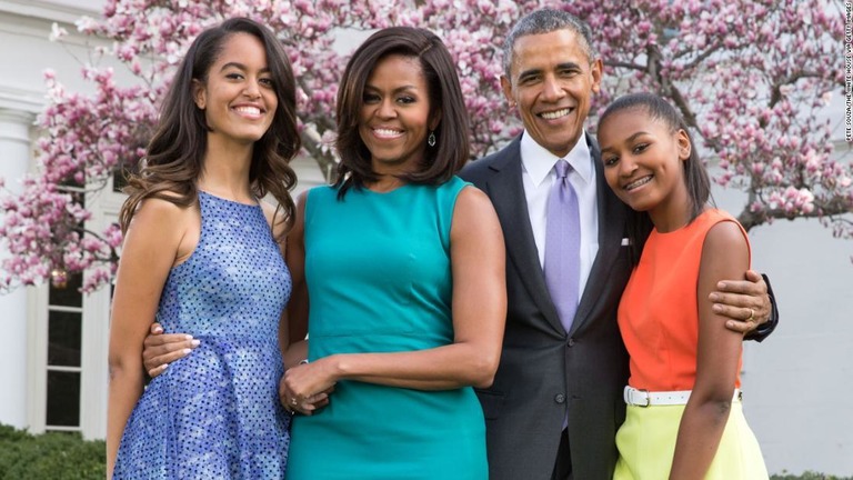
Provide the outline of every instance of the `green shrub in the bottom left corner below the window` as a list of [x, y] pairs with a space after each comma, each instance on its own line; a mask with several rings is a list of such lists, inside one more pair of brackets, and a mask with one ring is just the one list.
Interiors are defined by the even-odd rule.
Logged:
[[32, 436], [0, 424], [0, 480], [103, 480], [103, 441], [79, 433]]

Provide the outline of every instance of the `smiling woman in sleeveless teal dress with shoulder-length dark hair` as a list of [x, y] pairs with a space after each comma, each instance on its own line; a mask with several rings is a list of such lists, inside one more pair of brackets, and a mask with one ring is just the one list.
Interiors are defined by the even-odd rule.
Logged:
[[500, 359], [503, 237], [488, 197], [454, 176], [468, 126], [441, 40], [368, 39], [341, 82], [338, 134], [338, 181], [301, 196], [288, 237], [290, 337], [308, 322], [310, 340], [280, 388], [303, 413], [287, 478], [486, 479], [472, 387]]

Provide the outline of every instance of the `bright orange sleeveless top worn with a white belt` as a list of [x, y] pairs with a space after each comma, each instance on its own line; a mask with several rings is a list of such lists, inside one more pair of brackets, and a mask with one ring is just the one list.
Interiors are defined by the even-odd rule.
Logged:
[[[737, 223], [724, 211], [708, 209], [679, 230], [653, 230], [649, 237], [619, 303], [619, 330], [631, 356], [631, 387], [649, 391], [693, 389], [702, 246], [708, 231], [722, 221]], [[741, 231], [746, 238], [743, 227]], [[739, 363], [736, 388], [741, 386], [740, 370]]]

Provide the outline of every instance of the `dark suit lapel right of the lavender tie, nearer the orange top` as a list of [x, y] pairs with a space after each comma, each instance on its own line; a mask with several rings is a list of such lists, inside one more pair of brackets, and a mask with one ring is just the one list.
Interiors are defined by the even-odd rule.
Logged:
[[601, 163], [599, 143], [589, 134], [586, 141], [590, 144], [590, 152], [595, 166], [599, 252], [592, 263], [570, 334], [574, 334], [592, 317], [599, 294], [604, 291], [606, 282], [610, 281], [613, 261], [621, 254], [622, 238], [625, 233], [625, 209], [604, 180], [604, 166]]

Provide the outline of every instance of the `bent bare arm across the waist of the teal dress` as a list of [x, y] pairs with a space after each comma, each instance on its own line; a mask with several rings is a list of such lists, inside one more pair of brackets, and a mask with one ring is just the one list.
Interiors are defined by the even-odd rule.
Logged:
[[420, 351], [330, 356], [289, 370], [288, 389], [304, 398], [341, 379], [421, 390], [491, 384], [506, 316], [505, 254], [498, 217], [480, 190], [460, 192], [450, 237], [453, 343]]

